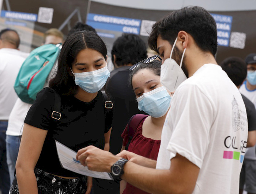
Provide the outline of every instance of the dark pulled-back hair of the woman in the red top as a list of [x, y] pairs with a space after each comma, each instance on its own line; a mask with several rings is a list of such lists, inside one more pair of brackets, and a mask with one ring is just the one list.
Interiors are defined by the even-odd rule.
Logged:
[[152, 62], [149, 63], [144, 63], [142, 62], [138, 67], [136, 67], [134, 70], [130, 71], [129, 74], [129, 83], [132, 86], [132, 77], [133, 75], [135, 75], [136, 73], [138, 73], [140, 70], [142, 69], [149, 69], [150, 71], [152, 71], [155, 75], [160, 76], [160, 71], [161, 71], [161, 62], [158, 60], [154, 60]]

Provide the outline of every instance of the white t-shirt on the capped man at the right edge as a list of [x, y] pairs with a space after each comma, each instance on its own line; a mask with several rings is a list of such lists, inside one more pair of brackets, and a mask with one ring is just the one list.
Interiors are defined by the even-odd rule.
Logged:
[[[242, 84], [241, 87], [239, 88], [239, 91], [246, 98], [251, 100], [252, 103], [254, 104], [255, 108], [256, 108], [256, 89], [255, 90], [248, 90], [248, 88], [246, 87], [246, 81], [245, 81], [244, 84]], [[256, 149], [256, 144], [253, 147], [246, 148], [244, 158], [249, 159], [249, 160], [256, 160], [255, 149]]]

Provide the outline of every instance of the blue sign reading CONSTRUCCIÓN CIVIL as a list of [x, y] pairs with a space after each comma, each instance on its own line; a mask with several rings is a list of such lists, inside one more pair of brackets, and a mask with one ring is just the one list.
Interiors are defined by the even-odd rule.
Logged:
[[139, 34], [141, 20], [89, 13], [86, 23], [96, 29]]

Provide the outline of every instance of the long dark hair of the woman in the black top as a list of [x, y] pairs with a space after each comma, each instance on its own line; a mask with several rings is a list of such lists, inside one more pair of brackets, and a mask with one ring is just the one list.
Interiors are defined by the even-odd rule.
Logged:
[[78, 86], [71, 76], [72, 63], [81, 50], [94, 49], [101, 53], [106, 60], [107, 48], [103, 40], [91, 31], [78, 31], [67, 37], [58, 58], [56, 75], [50, 80], [49, 87], [63, 95], [74, 95]]

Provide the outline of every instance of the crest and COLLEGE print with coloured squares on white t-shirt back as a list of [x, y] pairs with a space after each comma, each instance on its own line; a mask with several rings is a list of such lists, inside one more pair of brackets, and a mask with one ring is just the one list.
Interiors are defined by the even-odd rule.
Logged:
[[[233, 96], [234, 97], [234, 96]], [[242, 111], [234, 97], [232, 101], [232, 127], [234, 132], [237, 132], [241, 129], [241, 131], [245, 131], [247, 123], [246, 112]], [[224, 159], [234, 159], [240, 160], [242, 163], [244, 160], [245, 148], [247, 141], [241, 140], [241, 142], [236, 141], [236, 136], [227, 136], [224, 139], [224, 145], [226, 149], [232, 150], [227, 151], [226, 149], [223, 151]]]

